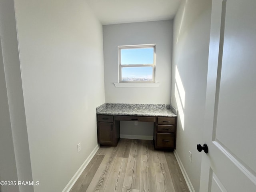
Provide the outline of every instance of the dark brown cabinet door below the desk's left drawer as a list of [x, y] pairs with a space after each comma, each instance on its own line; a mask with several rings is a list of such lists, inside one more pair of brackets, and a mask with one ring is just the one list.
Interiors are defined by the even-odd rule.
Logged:
[[98, 143], [102, 145], [114, 144], [113, 123], [98, 122]]

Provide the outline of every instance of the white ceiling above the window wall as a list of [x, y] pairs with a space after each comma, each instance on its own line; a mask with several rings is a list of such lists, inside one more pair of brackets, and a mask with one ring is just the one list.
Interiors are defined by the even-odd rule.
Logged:
[[102, 25], [173, 19], [181, 0], [86, 0]]

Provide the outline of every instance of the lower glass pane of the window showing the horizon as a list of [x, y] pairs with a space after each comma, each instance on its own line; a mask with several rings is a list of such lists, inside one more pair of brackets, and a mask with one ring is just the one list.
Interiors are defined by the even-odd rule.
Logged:
[[122, 67], [122, 81], [152, 81], [153, 67]]

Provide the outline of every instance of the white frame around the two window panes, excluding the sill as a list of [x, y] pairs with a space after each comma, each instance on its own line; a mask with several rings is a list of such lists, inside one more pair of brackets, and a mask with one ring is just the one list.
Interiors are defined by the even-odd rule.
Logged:
[[[153, 64], [128, 64], [122, 65], [121, 64], [121, 50], [122, 49], [136, 49], [136, 48], [154, 48], [154, 59]], [[122, 68], [125, 67], [152, 67], [152, 81], [122, 81]], [[155, 83], [156, 82], [156, 44], [143, 44], [143, 45], [125, 45], [125, 46], [118, 46], [118, 82], [120, 84], [123, 83]]]

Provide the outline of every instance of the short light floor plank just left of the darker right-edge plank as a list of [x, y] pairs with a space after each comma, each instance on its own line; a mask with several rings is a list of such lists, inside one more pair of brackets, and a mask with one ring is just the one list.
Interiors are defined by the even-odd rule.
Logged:
[[154, 166], [157, 191], [175, 192], [168, 165], [165, 163], [154, 163]]

